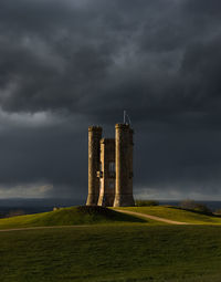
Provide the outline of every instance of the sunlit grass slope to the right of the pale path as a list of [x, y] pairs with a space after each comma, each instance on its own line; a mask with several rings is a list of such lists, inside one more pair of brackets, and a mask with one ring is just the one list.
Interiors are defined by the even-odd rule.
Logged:
[[182, 221], [188, 223], [196, 224], [221, 224], [221, 218], [215, 216], [206, 216], [198, 212], [182, 210], [175, 207], [164, 207], [164, 206], [155, 206], [155, 207], [129, 207], [129, 208], [120, 208], [131, 211], [137, 211], [141, 213], [147, 213], [151, 216], [157, 216], [160, 218], [171, 219], [176, 221]]

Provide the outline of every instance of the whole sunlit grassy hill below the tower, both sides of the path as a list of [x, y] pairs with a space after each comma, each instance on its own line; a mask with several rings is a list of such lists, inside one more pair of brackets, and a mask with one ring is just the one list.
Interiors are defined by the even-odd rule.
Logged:
[[[176, 221], [194, 224], [221, 224], [221, 218], [206, 216], [192, 211], [177, 209], [175, 207], [127, 207], [119, 208], [151, 216], [157, 216]], [[0, 230], [10, 228], [50, 227], [50, 226], [80, 226], [80, 224], [107, 224], [107, 223], [149, 223], [166, 224], [155, 220], [124, 215], [102, 207], [71, 207], [55, 211], [28, 216], [0, 219]]]

